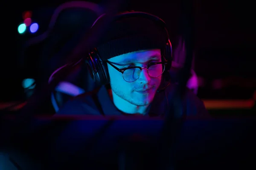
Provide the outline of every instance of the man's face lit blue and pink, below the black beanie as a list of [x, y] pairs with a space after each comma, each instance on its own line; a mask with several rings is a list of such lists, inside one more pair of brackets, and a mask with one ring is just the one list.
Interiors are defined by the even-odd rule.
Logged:
[[[128, 66], [145, 67], [152, 62], [161, 62], [161, 52], [160, 49], [131, 52], [116, 56], [108, 61], [119, 69]], [[151, 66], [151, 68], [153, 68], [150, 71], [151, 75], [160, 75], [163, 72], [162, 65]], [[134, 82], [125, 81], [122, 73], [110, 64], [108, 64], [108, 72], [112, 92], [136, 106], [146, 106], [152, 102], [162, 78], [162, 75], [158, 77], [149, 76], [146, 68], [140, 72], [140, 77]]]

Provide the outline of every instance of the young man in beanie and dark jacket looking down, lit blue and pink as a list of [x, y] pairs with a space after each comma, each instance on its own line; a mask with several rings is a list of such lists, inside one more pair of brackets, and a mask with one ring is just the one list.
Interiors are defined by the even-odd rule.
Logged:
[[[145, 17], [125, 17], [113, 21], [96, 47], [105, 63], [110, 86], [79, 95], [67, 102], [59, 115], [149, 115], [172, 112], [170, 98], [174, 84], [164, 90], [161, 49], [166, 31]], [[183, 113], [205, 114], [203, 102], [189, 90], [183, 100]]]

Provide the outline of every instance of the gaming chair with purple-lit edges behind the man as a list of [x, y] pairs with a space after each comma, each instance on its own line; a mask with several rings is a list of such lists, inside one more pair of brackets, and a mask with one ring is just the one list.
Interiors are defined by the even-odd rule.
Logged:
[[[40, 73], [36, 76], [37, 84], [44, 84], [54, 78], [54, 72], [63, 68], [63, 63], [66, 63], [65, 56], [56, 55], [58, 51], [63, 46], [68, 46], [66, 53], [70, 53], [76, 46], [73, 42], [77, 42], [79, 38], [76, 33], [90, 29], [101, 14], [102, 8], [99, 5], [85, 1], [63, 3], [55, 9], [47, 31], [31, 38], [23, 47], [24, 61], [35, 57], [35, 53], [38, 54], [39, 62], [36, 64]], [[58, 110], [57, 103], [62, 105], [70, 99], [70, 96], [79, 95], [94, 88], [93, 82], [89, 79], [90, 76], [86, 75], [86, 67], [78, 64], [72, 75], [56, 87], [51, 97], [55, 112]]]

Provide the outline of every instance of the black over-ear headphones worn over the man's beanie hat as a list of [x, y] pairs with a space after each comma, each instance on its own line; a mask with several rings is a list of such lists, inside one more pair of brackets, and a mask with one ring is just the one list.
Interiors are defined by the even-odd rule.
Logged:
[[[105, 14], [102, 14], [100, 17], [98, 17], [98, 19], [93, 23], [93, 26], [95, 25], [96, 22], [99, 22], [98, 20], [102, 20], [104, 16]], [[169, 33], [166, 29], [166, 23], [159, 17], [152, 14], [145, 13], [145, 12], [123, 12], [123, 13], [117, 14], [113, 20], [117, 21], [126, 17], [144, 17], [154, 21], [157, 25], [165, 29], [166, 46], [164, 49], [161, 49], [161, 55], [162, 55], [162, 60], [165, 60], [168, 62], [165, 68], [165, 71], [163, 73], [163, 76], [169, 75], [168, 72], [172, 66], [172, 44], [169, 40]], [[91, 29], [93, 29], [93, 26], [91, 27]], [[107, 63], [101, 60], [100, 55], [97, 52], [96, 48], [91, 50], [85, 62], [87, 65], [87, 69], [90, 72], [90, 75], [92, 76], [93, 80], [97, 85], [109, 84], [110, 78], [108, 75]]]

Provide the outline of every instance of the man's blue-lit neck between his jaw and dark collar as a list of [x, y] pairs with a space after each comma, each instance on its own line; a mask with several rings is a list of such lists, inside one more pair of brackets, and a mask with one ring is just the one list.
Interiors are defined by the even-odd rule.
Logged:
[[111, 89], [108, 89], [108, 94], [116, 108], [119, 109], [121, 112], [127, 114], [145, 114], [145, 112], [147, 111], [148, 106], [136, 106], [134, 104], [131, 104], [130, 102], [120, 98], [118, 95], [112, 92]]

